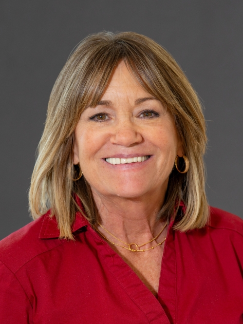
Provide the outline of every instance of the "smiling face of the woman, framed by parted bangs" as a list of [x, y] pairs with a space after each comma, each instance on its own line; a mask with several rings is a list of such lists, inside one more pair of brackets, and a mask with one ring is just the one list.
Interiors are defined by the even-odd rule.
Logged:
[[166, 191], [177, 154], [183, 155], [171, 114], [121, 61], [97, 106], [81, 114], [74, 164], [93, 193], [136, 198]]

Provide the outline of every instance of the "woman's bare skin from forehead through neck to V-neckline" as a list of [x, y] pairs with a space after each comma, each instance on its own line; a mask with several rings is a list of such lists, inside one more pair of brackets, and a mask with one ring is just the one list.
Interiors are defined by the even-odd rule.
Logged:
[[[112, 165], [105, 161], [107, 157], [144, 155], [150, 158], [140, 163]], [[91, 186], [101, 224], [128, 243], [142, 244], [157, 235], [165, 223], [157, 221], [156, 215], [176, 155], [183, 156], [183, 150], [171, 114], [141, 88], [120, 61], [100, 102], [81, 114], [75, 129], [74, 164], [80, 164]], [[112, 242], [122, 244], [98, 229]], [[167, 228], [143, 249], [162, 242], [166, 234]], [[156, 296], [164, 244], [145, 252], [110, 245]]]

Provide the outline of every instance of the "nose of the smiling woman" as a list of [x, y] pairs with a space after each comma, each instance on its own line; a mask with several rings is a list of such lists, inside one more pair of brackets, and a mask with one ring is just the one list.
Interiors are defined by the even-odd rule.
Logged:
[[122, 145], [124, 147], [132, 147], [141, 143], [142, 134], [138, 131], [136, 125], [130, 121], [119, 122], [114, 125], [113, 132], [110, 137], [112, 144]]

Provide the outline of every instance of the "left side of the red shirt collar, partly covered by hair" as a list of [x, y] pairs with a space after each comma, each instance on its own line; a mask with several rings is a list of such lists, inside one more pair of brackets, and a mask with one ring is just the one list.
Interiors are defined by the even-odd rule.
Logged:
[[[81, 210], [84, 212], [82, 203], [80, 199], [75, 195], [75, 201]], [[57, 227], [57, 221], [55, 215], [50, 217], [51, 210], [48, 210], [45, 215], [43, 215], [43, 222], [39, 233], [40, 239], [51, 239], [51, 238], [58, 238], [60, 236], [60, 231]], [[85, 227], [89, 224], [89, 221], [81, 214], [81, 212], [77, 211], [75, 213], [75, 221], [72, 226], [72, 233]]]

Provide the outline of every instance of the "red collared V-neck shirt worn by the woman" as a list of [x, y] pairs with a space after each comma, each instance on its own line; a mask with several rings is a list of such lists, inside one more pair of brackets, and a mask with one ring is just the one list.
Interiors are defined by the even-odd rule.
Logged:
[[75, 241], [31, 222], [0, 242], [0, 323], [243, 323], [243, 220], [211, 208], [204, 229], [172, 225], [156, 299], [78, 213]]

